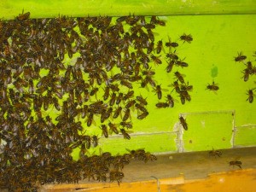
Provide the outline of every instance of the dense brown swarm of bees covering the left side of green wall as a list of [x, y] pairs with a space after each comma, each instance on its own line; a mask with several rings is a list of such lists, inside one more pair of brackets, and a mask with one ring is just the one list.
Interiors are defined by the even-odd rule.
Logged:
[[[84, 178], [119, 183], [131, 159], [156, 160], [144, 149], [88, 156], [99, 137], [86, 131], [97, 120], [103, 137], [114, 133], [131, 139], [132, 108], [137, 119], [149, 114], [147, 99], [133, 90], [134, 84], [150, 86], [160, 100], [154, 67], [163, 58], [166, 73], [189, 66], [177, 56], [176, 42], [154, 41], [154, 28], [166, 22], [156, 16], [115, 21], [108, 16], [29, 17], [28, 12], [0, 21], [0, 187], [36, 191], [38, 184]], [[183, 34], [180, 40], [191, 43], [193, 38]], [[169, 49], [166, 58], [160, 55], [164, 46]], [[65, 63], [67, 59], [73, 63]], [[182, 104], [190, 101], [193, 86], [178, 71], [174, 77], [172, 91]], [[173, 108], [174, 101], [168, 94], [156, 107]], [[79, 160], [71, 155], [75, 148]]]

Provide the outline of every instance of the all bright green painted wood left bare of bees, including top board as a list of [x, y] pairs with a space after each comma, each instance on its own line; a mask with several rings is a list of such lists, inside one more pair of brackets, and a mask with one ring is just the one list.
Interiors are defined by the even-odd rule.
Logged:
[[[234, 61], [237, 52], [242, 51], [244, 55], [247, 55], [247, 61], [253, 61], [253, 65], [256, 65], [256, 58], [253, 57], [253, 52], [256, 51], [256, 15], [242, 15], [256, 13], [255, 1], [242, 1], [242, 4], [241, 1], [232, 1], [232, 3], [226, 1], [215, 1], [215, 3], [213, 1], [181, 1], [178, 3], [152, 1], [150, 4], [148, 1], [132, 1], [132, 3], [131, 1], [120, 1], [122, 3], [101, 1], [100, 12], [95, 9], [99, 5], [97, 1], [93, 5], [92, 1], [80, 3], [78, 0], [72, 1], [72, 5], [68, 4], [69, 1], [44, 2], [26, 1], [24, 4], [22, 1], [2, 1], [0, 5], [3, 9], [0, 11], [0, 16], [6, 19], [14, 18], [23, 8], [25, 12], [30, 11], [32, 17], [52, 17], [59, 14], [98, 15], [98, 13], [128, 15], [131, 10], [134, 10], [134, 13], [142, 15], [169, 15], [160, 17], [166, 20], [166, 26], [160, 26], [154, 30], [155, 41], [162, 39], [166, 42], [168, 36], [172, 38], [172, 41], [177, 41], [184, 32], [191, 34], [194, 38], [191, 44], [178, 42], [180, 46], [177, 49], [177, 55], [185, 58], [189, 67], [173, 68], [173, 71], [178, 70], [185, 74], [185, 81], [193, 84], [191, 102], [182, 105], [173, 91], [172, 95], [177, 100], [175, 107], [156, 109], [155, 103], [158, 100], [151, 88], [149, 91], [143, 90], [140, 84], [134, 84], [137, 95], [142, 94], [148, 98], [149, 115], [146, 119], [137, 120], [137, 114], [134, 113], [132, 119], [134, 128], [129, 141], [124, 140], [121, 135], [108, 139], [101, 138], [100, 148], [103, 151], [116, 154], [124, 153], [125, 148], [146, 148], [150, 152], [166, 153], [209, 150], [212, 147], [232, 148], [256, 145], [256, 102], [246, 101], [247, 90], [256, 86], [254, 82], [256, 76], [244, 82], [241, 79], [241, 71], [245, 66]], [[209, 7], [210, 4], [212, 7]], [[182, 9], [178, 9], [182, 5]], [[129, 9], [124, 10], [125, 6]], [[120, 7], [123, 9], [119, 9]], [[113, 10], [120, 12], [113, 14]], [[221, 12], [240, 15], [212, 15]], [[161, 56], [164, 61], [164, 54]], [[164, 98], [172, 90], [168, 84], [174, 81], [173, 73], [166, 73], [165, 68], [166, 63], [154, 67], [158, 84], [161, 84], [163, 89], [168, 89], [168, 92], [163, 92]], [[206, 90], [207, 84], [211, 84], [212, 80], [219, 86], [216, 94]], [[102, 94], [103, 92], [100, 92], [98, 97]], [[54, 116], [55, 111], [51, 113]], [[179, 124], [180, 114], [187, 119], [188, 131], [183, 131]], [[100, 136], [101, 132], [96, 130], [99, 129], [90, 127], [87, 131]], [[93, 150], [97, 153], [98, 148]], [[93, 150], [90, 153], [93, 153]], [[77, 158], [77, 153], [74, 157]]]

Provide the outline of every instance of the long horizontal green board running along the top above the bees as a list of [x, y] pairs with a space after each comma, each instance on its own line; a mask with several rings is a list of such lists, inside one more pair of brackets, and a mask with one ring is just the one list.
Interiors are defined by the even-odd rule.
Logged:
[[13, 19], [22, 9], [33, 18], [99, 15], [223, 15], [255, 14], [254, 0], [2, 0], [0, 17]]

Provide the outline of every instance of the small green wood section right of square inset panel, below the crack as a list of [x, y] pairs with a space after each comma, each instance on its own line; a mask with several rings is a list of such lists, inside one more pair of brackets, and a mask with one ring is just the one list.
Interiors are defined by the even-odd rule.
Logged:
[[256, 126], [244, 125], [236, 127], [234, 147], [250, 147], [256, 145]]

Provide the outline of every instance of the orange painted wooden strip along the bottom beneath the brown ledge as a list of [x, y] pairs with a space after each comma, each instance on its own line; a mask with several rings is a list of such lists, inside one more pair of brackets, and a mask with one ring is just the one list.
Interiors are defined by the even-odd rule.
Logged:
[[185, 180], [183, 176], [135, 183], [80, 183], [44, 186], [47, 192], [255, 192], [256, 169], [219, 172], [205, 179]]

